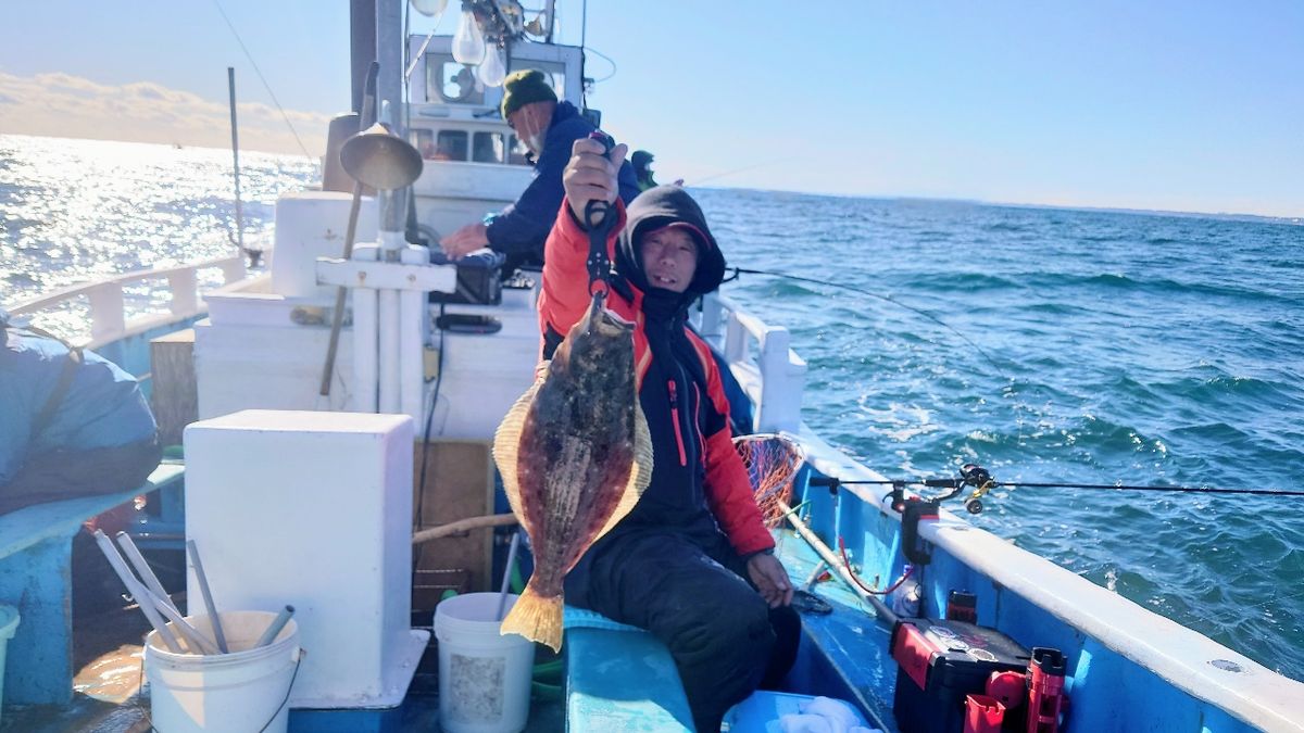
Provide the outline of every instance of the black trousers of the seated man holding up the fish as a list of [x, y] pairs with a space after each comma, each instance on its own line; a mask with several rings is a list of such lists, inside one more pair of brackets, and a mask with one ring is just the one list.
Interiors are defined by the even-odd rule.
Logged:
[[797, 659], [797, 612], [767, 606], [713, 526], [604, 537], [575, 570], [567, 603], [647, 629], [670, 650], [699, 733], [719, 732], [730, 706], [777, 685]]

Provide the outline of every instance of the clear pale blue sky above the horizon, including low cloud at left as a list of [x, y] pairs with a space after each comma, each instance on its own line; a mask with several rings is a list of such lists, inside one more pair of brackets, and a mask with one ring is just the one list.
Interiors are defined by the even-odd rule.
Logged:
[[[319, 146], [349, 100], [347, 3], [222, 4]], [[297, 151], [213, 1], [10, 5], [0, 133], [222, 145], [233, 65], [241, 140]], [[1304, 215], [1304, 3], [588, 5], [618, 64], [589, 102], [662, 180]], [[582, 3], [559, 7], [578, 43]]]

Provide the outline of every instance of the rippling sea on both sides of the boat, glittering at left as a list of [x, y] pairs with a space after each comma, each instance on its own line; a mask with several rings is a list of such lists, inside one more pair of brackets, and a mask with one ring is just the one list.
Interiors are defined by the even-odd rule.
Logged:
[[[258, 240], [314, 164], [241, 173]], [[803, 419], [887, 476], [1304, 490], [1299, 220], [690, 190], [732, 265], [825, 283], [722, 290], [793, 333]], [[0, 136], [0, 303], [228, 254], [233, 220], [228, 151]], [[986, 503], [979, 527], [1304, 680], [1304, 497]]]

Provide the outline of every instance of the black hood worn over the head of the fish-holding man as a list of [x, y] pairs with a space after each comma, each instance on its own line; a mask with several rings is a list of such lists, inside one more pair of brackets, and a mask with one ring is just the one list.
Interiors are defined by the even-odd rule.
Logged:
[[[626, 209], [625, 231], [615, 247], [615, 271], [644, 293], [648, 292], [647, 273], [638, 253], [643, 235], [675, 222], [691, 224], [702, 236], [698, 239], [698, 269], [683, 293], [689, 303], [720, 287], [725, 278], [725, 256], [707, 227], [698, 202], [677, 185], [659, 185], [640, 193]], [[705, 237], [707, 241], [702, 241]], [[660, 290], [660, 288], [659, 288]]]

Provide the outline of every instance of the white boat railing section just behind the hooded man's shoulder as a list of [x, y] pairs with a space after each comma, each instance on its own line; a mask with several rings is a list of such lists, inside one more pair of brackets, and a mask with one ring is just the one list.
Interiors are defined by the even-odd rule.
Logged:
[[696, 326], [703, 338], [720, 347], [755, 403], [754, 428], [764, 433], [798, 432], [806, 361], [789, 347], [788, 329], [767, 325], [720, 293], [702, 299]]

